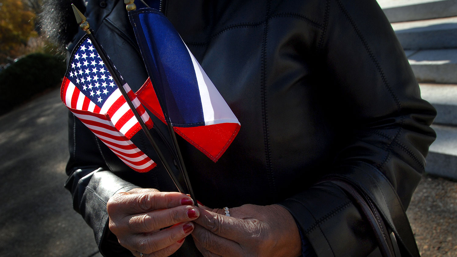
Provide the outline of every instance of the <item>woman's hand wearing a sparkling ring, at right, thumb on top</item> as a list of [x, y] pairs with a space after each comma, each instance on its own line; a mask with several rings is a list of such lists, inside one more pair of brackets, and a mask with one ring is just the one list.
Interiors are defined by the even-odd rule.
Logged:
[[229, 209], [200, 205], [194, 220], [195, 244], [205, 257], [297, 257], [302, 241], [292, 215], [280, 205]]

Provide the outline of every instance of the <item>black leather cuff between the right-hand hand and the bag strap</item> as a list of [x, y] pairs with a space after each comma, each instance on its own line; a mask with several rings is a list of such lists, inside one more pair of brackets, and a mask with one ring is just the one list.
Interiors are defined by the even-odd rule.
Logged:
[[316, 184], [280, 205], [297, 221], [305, 238], [303, 250], [313, 249], [317, 257], [366, 256], [375, 247], [357, 208], [331, 182]]

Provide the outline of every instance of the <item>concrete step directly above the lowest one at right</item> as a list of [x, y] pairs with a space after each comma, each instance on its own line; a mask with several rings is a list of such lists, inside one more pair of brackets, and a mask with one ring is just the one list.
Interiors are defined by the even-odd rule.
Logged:
[[457, 84], [419, 84], [420, 94], [436, 108], [433, 124], [457, 126]]

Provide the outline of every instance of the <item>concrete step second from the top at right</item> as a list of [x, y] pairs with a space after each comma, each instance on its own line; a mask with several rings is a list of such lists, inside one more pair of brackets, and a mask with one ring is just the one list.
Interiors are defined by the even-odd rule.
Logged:
[[457, 48], [457, 16], [391, 25], [404, 49]]

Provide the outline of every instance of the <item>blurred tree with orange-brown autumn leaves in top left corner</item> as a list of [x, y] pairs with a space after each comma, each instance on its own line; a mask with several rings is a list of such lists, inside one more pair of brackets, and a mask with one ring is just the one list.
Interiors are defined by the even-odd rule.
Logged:
[[34, 31], [35, 14], [18, 0], [0, 0], [0, 63], [17, 57]]

